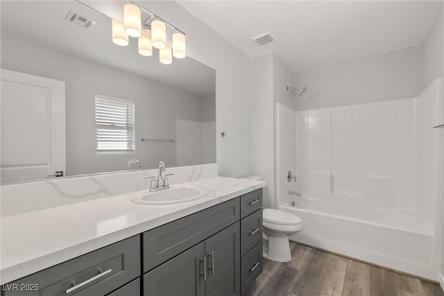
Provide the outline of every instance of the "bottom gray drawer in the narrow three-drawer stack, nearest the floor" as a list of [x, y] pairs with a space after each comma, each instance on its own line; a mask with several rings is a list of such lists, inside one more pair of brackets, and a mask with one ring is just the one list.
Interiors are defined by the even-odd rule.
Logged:
[[248, 288], [262, 272], [262, 241], [241, 259], [241, 290], [246, 295]]

